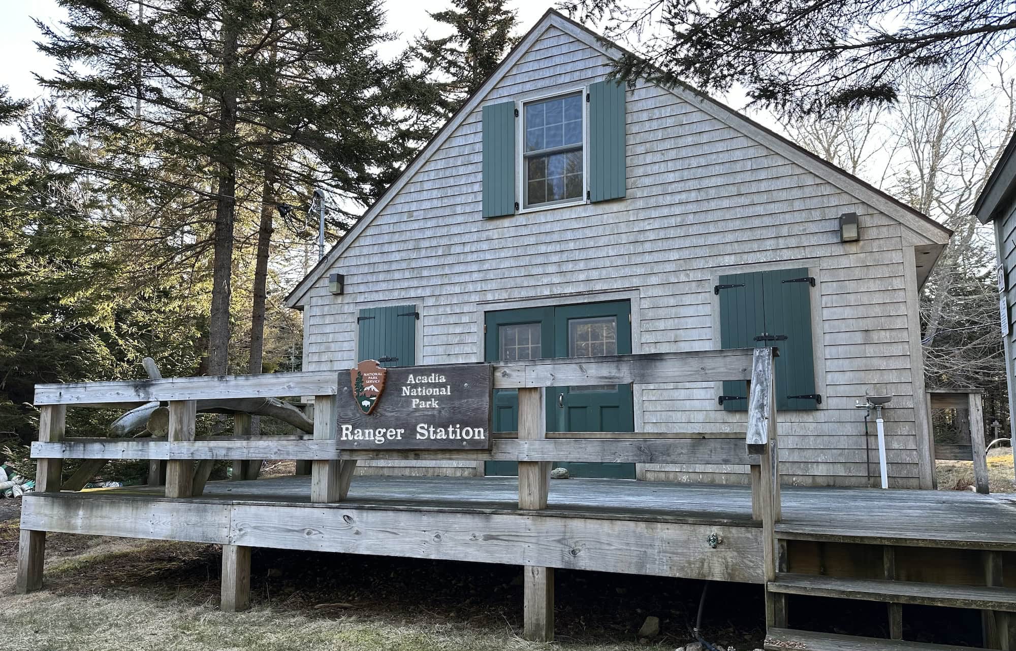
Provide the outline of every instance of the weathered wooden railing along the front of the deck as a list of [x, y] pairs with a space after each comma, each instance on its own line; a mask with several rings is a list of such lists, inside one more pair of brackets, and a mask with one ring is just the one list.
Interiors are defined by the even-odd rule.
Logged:
[[[497, 434], [490, 450], [337, 449], [335, 413], [340, 375], [335, 371], [42, 384], [36, 389], [36, 405], [42, 411], [40, 436], [39, 442], [31, 445], [33, 456], [39, 459], [37, 490], [60, 490], [64, 458], [91, 459], [97, 465], [105, 459], [166, 459], [166, 496], [172, 498], [200, 495], [215, 459], [303, 459], [311, 461], [311, 501], [340, 502], [346, 498], [360, 459], [497, 460], [518, 461], [519, 509], [542, 510], [548, 504], [551, 462], [557, 459], [747, 464], [751, 466], [752, 513], [762, 525], [765, 579], [772, 581], [783, 556], [778, 554], [774, 535], [780, 518], [775, 355], [775, 349], [761, 348], [496, 364], [494, 387], [518, 389], [518, 431]], [[549, 386], [724, 380], [748, 383], [747, 422], [740, 436], [546, 431], [545, 391]], [[223, 400], [287, 396], [314, 396], [313, 435], [195, 436], [199, 406], [214, 406]], [[169, 434], [165, 439], [64, 437], [68, 407], [130, 408], [154, 401], [169, 405]], [[245, 414], [236, 418], [238, 425], [249, 422]], [[194, 461], [199, 461], [196, 466]], [[26, 553], [25, 558], [29, 556]], [[538, 607], [553, 602], [553, 568], [526, 567], [525, 635], [529, 639], [553, 638], [553, 607]], [[769, 595], [766, 604], [770, 626], [785, 619], [779, 595]]]

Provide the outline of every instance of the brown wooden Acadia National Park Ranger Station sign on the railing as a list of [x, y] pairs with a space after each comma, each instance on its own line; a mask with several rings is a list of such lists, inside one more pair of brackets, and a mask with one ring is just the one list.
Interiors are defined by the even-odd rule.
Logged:
[[381, 368], [363, 361], [339, 374], [338, 449], [490, 449], [493, 389], [491, 364]]

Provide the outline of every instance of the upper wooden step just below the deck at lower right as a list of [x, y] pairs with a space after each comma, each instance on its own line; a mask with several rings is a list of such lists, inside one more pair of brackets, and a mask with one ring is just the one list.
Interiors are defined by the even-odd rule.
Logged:
[[1013, 588], [778, 574], [776, 580], [769, 583], [769, 590], [841, 599], [1016, 611], [1016, 589]]

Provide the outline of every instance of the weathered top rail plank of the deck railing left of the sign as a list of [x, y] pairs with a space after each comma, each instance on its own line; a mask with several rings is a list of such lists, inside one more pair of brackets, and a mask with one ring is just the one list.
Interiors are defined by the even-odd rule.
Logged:
[[338, 377], [331, 371], [169, 377], [137, 381], [37, 384], [35, 404], [105, 407], [109, 403], [333, 395], [337, 389]]

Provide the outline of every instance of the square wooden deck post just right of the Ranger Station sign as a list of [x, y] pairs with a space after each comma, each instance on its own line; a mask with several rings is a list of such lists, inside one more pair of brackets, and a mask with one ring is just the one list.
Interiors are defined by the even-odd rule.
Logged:
[[[518, 437], [524, 440], [547, 438], [545, 415], [546, 391], [539, 388], [518, 389]], [[551, 483], [551, 461], [519, 461], [518, 508], [547, 508]], [[524, 566], [523, 636], [534, 642], [554, 641], [554, 568]]]

